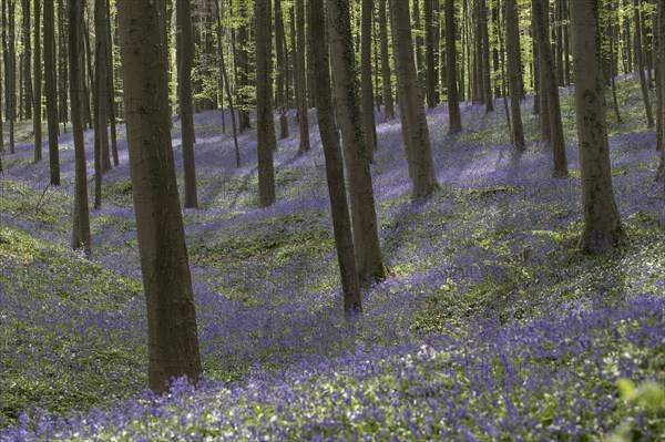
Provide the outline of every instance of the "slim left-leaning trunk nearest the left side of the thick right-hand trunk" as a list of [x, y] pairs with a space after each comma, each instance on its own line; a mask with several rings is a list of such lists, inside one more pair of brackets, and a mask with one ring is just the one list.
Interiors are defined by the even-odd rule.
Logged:
[[[556, 85], [556, 74], [552, 69], [552, 45], [550, 44], [548, 25], [548, 0], [534, 0], [534, 16], [538, 21], [536, 37], [539, 44], [539, 55], [542, 60], [541, 76], [543, 78], [543, 95], [548, 96], [548, 106], [542, 107], [542, 112], [549, 111], [549, 121], [551, 130], [551, 145], [553, 152], [553, 175], [562, 177], [567, 175], [567, 164], [565, 158], [565, 143], [563, 140], [563, 124], [561, 121], [561, 105], [559, 101], [559, 88]], [[549, 66], [549, 68], [546, 68]], [[541, 103], [542, 104], [542, 103]]]

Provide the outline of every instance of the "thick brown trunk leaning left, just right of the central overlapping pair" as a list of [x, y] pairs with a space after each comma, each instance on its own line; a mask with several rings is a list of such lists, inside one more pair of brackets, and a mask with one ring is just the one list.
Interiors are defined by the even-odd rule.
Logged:
[[427, 116], [418, 84], [408, 0], [390, 0], [397, 92], [402, 120], [402, 138], [413, 183], [411, 196], [424, 197], [439, 188]]

